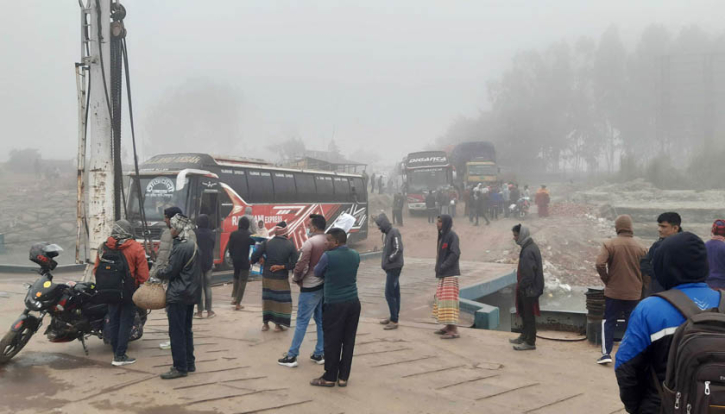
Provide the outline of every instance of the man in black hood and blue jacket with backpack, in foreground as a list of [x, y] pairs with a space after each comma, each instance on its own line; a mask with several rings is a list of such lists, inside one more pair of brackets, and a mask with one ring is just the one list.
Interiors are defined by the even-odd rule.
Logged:
[[[641, 301], [629, 318], [615, 363], [620, 398], [628, 413], [715, 412], [710, 406], [724, 396], [710, 384], [722, 378], [725, 360], [717, 351], [725, 348], [725, 335], [713, 329], [722, 315], [703, 312], [722, 310], [720, 293], [705, 284], [705, 243], [689, 232], [670, 236], [653, 264], [666, 291]], [[691, 330], [694, 314], [699, 323]], [[668, 390], [662, 391], [663, 382]]]

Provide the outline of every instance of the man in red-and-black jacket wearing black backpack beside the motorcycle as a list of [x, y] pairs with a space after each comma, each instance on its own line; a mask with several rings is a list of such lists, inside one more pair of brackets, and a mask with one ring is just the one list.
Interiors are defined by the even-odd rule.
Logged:
[[126, 220], [113, 225], [111, 236], [100, 249], [93, 268], [96, 289], [108, 304], [108, 327], [113, 347], [115, 367], [136, 362], [126, 355], [131, 327], [136, 316], [136, 305], [131, 298], [142, 283], [149, 278], [146, 252], [133, 238], [133, 228]]

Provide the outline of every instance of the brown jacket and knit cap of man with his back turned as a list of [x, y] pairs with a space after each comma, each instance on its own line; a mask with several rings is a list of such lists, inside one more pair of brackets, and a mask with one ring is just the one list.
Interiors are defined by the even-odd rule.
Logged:
[[604, 242], [596, 261], [597, 272], [604, 283], [604, 296], [639, 300], [642, 297], [642, 272], [639, 266], [647, 249], [634, 239], [631, 217], [617, 217], [615, 228], [617, 237]]

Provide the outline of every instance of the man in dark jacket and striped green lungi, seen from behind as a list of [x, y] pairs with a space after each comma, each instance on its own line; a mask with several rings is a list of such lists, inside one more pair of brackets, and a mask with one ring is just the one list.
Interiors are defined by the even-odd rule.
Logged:
[[297, 264], [298, 253], [294, 243], [287, 237], [287, 223], [280, 222], [270, 231], [271, 239], [265, 240], [252, 254], [255, 264], [264, 256], [262, 271], [262, 320], [263, 331], [269, 330], [269, 323], [275, 324], [275, 332], [290, 327], [292, 319], [292, 291], [289, 272]]

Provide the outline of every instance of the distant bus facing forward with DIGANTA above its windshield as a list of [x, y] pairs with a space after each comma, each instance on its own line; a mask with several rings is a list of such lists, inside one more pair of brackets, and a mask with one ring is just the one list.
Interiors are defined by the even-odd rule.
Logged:
[[445, 151], [423, 151], [408, 154], [403, 160], [403, 174], [411, 213], [425, 211], [425, 193], [450, 190], [453, 169]]

